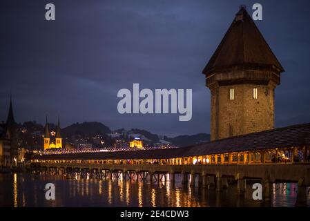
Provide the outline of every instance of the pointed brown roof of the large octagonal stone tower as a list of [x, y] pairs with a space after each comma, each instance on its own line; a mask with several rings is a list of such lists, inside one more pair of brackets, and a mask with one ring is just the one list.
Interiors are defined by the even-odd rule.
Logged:
[[246, 12], [245, 6], [240, 6], [233, 23], [202, 73], [211, 75], [232, 67], [267, 68], [273, 69], [276, 73], [284, 71], [260, 30]]

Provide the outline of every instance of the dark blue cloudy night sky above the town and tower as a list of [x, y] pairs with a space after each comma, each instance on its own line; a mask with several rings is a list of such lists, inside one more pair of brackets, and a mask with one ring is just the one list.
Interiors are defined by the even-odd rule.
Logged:
[[[62, 126], [98, 121], [162, 135], [209, 133], [202, 69], [239, 6], [258, 1], [13, 1], [0, 3], [0, 120], [10, 90], [17, 122], [46, 113]], [[56, 21], [45, 20], [55, 3]], [[275, 90], [275, 126], [310, 122], [310, 1], [259, 1], [255, 21], [286, 70]], [[193, 88], [193, 117], [120, 115], [117, 91]]]

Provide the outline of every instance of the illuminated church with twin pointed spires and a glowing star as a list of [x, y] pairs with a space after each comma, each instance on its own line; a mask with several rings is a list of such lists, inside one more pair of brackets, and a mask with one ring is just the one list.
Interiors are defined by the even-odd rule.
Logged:
[[48, 117], [46, 117], [45, 133], [43, 137], [43, 148], [62, 148], [62, 137], [60, 133], [60, 120], [58, 117], [57, 131], [51, 131], [48, 128]]

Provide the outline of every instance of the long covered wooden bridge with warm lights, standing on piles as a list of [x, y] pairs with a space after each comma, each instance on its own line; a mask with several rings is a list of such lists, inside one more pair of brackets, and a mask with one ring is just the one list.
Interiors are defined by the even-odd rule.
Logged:
[[238, 192], [244, 193], [244, 180], [259, 179], [264, 184], [264, 200], [270, 200], [276, 182], [298, 182], [298, 202], [307, 203], [310, 186], [310, 124], [299, 124], [269, 131], [230, 137], [182, 148], [152, 151], [115, 151], [34, 155], [32, 168], [53, 171], [95, 171], [113, 176], [123, 173], [150, 180], [159, 175], [182, 174], [182, 183], [209, 187], [218, 191], [227, 178], [237, 180]]

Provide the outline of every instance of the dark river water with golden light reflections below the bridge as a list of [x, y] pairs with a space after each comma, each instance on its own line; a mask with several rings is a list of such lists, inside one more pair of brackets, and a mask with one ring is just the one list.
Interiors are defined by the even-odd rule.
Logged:
[[[0, 174], [0, 206], [294, 206], [298, 190], [293, 183], [273, 184], [273, 200], [264, 203], [252, 200], [249, 184], [245, 196], [240, 197], [235, 184], [217, 192], [184, 187], [178, 175], [175, 184], [169, 182], [168, 175], [162, 177], [162, 182], [153, 183], [136, 182], [135, 176], [126, 182], [123, 178], [122, 174], [112, 180], [78, 174]], [[45, 199], [48, 182], [55, 184], [56, 200]]]

